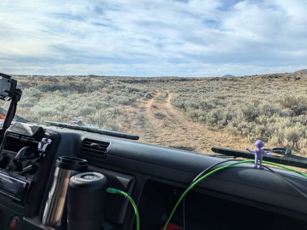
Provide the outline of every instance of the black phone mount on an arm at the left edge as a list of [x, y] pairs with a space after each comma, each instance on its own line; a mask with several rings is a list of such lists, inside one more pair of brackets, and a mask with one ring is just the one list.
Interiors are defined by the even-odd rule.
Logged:
[[0, 99], [11, 101], [2, 125], [2, 129], [0, 129], [0, 135], [2, 135], [7, 128], [10, 127], [13, 121], [16, 113], [17, 102], [21, 99], [22, 90], [17, 89], [17, 81], [11, 76], [1, 73], [0, 76], [2, 77], [0, 78]]

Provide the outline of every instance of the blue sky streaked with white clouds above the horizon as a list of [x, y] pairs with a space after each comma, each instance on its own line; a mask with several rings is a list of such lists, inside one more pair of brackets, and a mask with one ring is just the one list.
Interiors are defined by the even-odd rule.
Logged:
[[307, 69], [306, 0], [1, 1], [0, 72], [220, 77]]

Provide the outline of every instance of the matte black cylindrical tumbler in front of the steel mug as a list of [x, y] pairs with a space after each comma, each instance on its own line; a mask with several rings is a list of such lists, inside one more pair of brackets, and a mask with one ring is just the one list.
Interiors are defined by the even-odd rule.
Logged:
[[68, 230], [103, 230], [107, 178], [98, 172], [72, 176], [68, 185]]

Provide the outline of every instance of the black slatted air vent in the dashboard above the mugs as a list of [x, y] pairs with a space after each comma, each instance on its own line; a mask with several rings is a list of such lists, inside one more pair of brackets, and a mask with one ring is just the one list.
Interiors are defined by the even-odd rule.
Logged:
[[87, 156], [94, 156], [105, 158], [110, 142], [96, 141], [91, 139], [84, 139], [80, 146], [80, 153]]

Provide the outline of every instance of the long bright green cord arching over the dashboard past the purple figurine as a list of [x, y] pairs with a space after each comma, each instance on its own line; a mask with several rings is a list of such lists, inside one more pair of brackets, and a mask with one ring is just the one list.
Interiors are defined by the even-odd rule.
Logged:
[[[166, 227], [167, 227], [167, 225], [169, 224], [169, 221], [171, 220], [171, 218], [173, 217], [173, 214], [175, 213], [175, 211], [176, 211], [178, 205], [180, 204], [181, 200], [182, 200], [182, 199], [185, 197], [185, 195], [186, 195], [194, 186], [196, 186], [200, 181], [202, 181], [203, 179], [205, 179], [206, 177], [212, 175], [213, 173], [215, 173], [215, 172], [217, 172], [217, 171], [220, 171], [220, 170], [225, 169], [225, 168], [229, 168], [229, 167], [234, 166], [234, 165], [236, 165], [236, 164], [242, 164], [242, 163], [247, 163], [247, 162], [255, 162], [255, 160], [242, 160], [242, 161], [239, 161], [239, 162], [235, 162], [235, 163], [232, 163], [232, 164], [227, 164], [227, 165], [221, 166], [221, 167], [219, 167], [219, 168], [216, 168], [216, 169], [212, 170], [211, 172], [208, 172], [207, 174], [203, 175], [203, 176], [200, 177], [198, 180], [196, 180], [194, 183], [192, 183], [191, 186], [188, 187], [188, 188], [184, 191], [184, 193], [181, 195], [181, 197], [179, 198], [178, 202], [176, 203], [175, 207], [173, 208], [172, 213], [170, 214], [169, 218], [167, 219], [167, 221], [166, 221], [166, 223], [165, 223], [165, 225], [164, 225], [163, 230], [166, 230]], [[263, 162], [263, 163], [266, 163], [266, 164], [272, 164], [272, 165], [275, 165], [275, 166], [278, 166], [278, 167], [286, 168], [286, 169], [288, 169], [288, 170], [290, 170], [290, 171], [292, 171], [292, 172], [296, 172], [296, 173], [298, 173], [298, 174], [300, 174], [300, 175], [303, 175], [303, 176], [307, 177], [307, 174], [302, 173], [302, 172], [298, 172], [298, 171], [296, 171], [296, 170], [294, 170], [294, 169], [292, 169], [292, 168], [286, 167], [286, 166], [284, 166], [284, 165], [276, 164], [276, 163], [272, 163], [272, 162], [264, 161], [264, 160], [263, 160], [262, 162]]]

